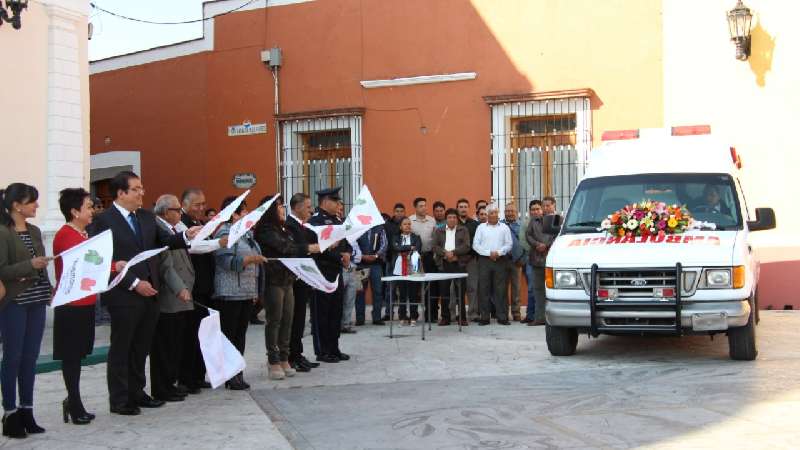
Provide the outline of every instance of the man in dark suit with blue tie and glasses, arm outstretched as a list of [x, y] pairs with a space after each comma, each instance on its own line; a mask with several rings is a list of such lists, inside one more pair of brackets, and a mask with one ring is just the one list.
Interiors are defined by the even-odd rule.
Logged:
[[[171, 235], [156, 225], [155, 215], [142, 209], [144, 188], [133, 172], [120, 172], [109, 183], [114, 195], [110, 208], [95, 218], [93, 234], [114, 233], [114, 260], [129, 261], [137, 254], [155, 248], [186, 248], [199, 228]], [[158, 321], [155, 295], [160, 288], [158, 258], [131, 267], [122, 282], [103, 294], [102, 301], [111, 314], [111, 348], [108, 351], [108, 392], [111, 412], [137, 415], [139, 407], [158, 408], [144, 391], [145, 361]]]

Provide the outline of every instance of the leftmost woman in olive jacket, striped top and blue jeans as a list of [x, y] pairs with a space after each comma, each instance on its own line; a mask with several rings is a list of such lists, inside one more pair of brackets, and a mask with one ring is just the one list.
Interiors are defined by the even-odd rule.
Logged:
[[23, 183], [0, 190], [0, 280], [7, 291], [0, 314], [0, 384], [3, 435], [12, 438], [44, 433], [33, 418], [33, 383], [52, 291], [44, 269], [52, 258], [44, 255], [42, 232], [27, 222], [36, 217], [38, 199], [36, 188]]

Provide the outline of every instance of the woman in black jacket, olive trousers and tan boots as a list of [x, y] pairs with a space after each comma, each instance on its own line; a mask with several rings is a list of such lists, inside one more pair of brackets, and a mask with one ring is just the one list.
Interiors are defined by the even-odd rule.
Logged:
[[[270, 197], [262, 200], [262, 203]], [[278, 197], [256, 225], [256, 240], [267, 258], [307, 257], [319, 246], [300, 245], [284, 227], [286, 208]], [[267, 291], [264, 309], [267, 311], [266, 345], [269, 362], [269, 378], [282, 380], [293, 377], [295, 369], [289, 365], [289, 342], [292, 336], [294, 317], [295, 276], [280, 261], [267, 261]]]

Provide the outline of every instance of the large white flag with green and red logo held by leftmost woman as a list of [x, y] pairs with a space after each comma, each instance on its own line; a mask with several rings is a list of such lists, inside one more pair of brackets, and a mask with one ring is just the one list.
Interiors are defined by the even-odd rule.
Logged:
[[53, 308], [106, 290], [114, 256], [114, 239], [106, 230], [58, 255], [61, 279], [50, 304]]

